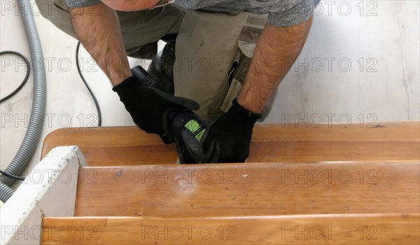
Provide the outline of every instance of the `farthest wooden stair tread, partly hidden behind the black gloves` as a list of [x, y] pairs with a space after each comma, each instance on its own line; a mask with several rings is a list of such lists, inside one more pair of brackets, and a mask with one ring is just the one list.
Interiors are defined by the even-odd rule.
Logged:
[[[256, 125], [248, 162], [412, 161], [420, 159], [420, 124]], [[90, 166], [172, 165], [177, 153], [137, 127], [65, 128], [45, 138], [41, 158], [55, 146], [76, 145]]]

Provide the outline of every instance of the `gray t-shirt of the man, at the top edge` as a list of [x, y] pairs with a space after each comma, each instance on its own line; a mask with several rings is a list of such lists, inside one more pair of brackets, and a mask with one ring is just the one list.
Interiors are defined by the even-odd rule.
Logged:
[[[71, 8], [90, 6], [99, 1], [101, 0], [66, 0], [67, 6]], [[321, 0], [175, 0], [172, 4], [191, 10], [268, 13], [268, 22], [271, 25], [290, 27], [309, 19], [319, 1]]]

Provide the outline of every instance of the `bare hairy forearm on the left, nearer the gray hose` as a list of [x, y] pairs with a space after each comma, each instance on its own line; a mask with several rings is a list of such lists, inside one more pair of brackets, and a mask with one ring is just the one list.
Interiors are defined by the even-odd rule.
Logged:
[[71, 8], [71, 22], [79, 41], [115, 86], [131, 75], [116, 10], [98, 3]]

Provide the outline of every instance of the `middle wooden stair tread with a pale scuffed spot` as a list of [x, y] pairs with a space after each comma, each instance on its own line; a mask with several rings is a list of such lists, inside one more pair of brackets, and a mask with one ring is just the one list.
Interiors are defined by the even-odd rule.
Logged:
[[419, 213], [419, 162], [85, 167], [76, 216]]

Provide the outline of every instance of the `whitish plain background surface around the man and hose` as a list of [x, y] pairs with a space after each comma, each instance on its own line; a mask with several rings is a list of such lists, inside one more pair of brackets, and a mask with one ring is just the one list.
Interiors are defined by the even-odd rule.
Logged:
[[[0, 50], [29, 57], [20, 16], [6, 10], [5, 1], [0, 1]], [[286, 123], [305, 115], [309, 123], [419, 120], [419, 1], [321, 1], [321, 6], [298, 59], [302, 65], [295, 64], [281, 83], [266, 123]], [[36, 23], [45, 58], [50, 59], [48, 117], [42, 138], [59, 127], [96, 125], [94, 104], [73, 62], [76, 40], [40, 16]], [[102, 71], [93, 66], [97, 72], [90, 72], [92, 61], [84, 50], [82, 57], [85, 78], [102, 108], [103, 125], [134, 125]], [[2, 67], [3, 62], [5, 57], [1, 57]], [[351, 64], [349, 71], [346, 62]], [[0, 97], [16, 87], [23, 74], [23, 66], [2, 71]], [[13, 159], [25, 134], [25, 123], [19, 119], [29, 118], [31, 88], [29, 80], [18, 95], [0, 105], [1, 169]], [[41, 144], [32, 165], [39, 159], [39, 148]]]

